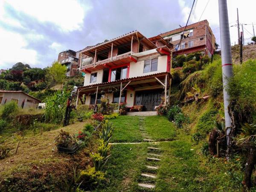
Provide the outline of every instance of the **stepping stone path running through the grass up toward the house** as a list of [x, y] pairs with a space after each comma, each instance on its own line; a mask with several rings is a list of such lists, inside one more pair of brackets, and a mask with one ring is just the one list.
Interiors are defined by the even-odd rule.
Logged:
[[150, 142], [150, 146], [148, 147], [148, 157], [147, 160], [147, 166], [145, 167], [145, 170], [141, 173], [138, 186], [143, 191], [151, 191], [155, 188], [155, 182], [157, 178], [157, 163], [161, 161], [161, 149], [157, 147], [157, 143], [151, 143], [155, 142], [151, 137], [148, 135], [148, 133], [145, 130], [144, 127], [144, 121], [145, 117], [140, 116], [139, 117], [139, 130], [143, 136], [144, 142]]

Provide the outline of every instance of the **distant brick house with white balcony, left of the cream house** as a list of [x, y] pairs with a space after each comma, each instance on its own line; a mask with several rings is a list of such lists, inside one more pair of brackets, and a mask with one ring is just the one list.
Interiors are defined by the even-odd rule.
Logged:
[[79, 72], [78, 58], [76, 57], [77, 52], [68, 49], [60, 52], [58, 55], [58, 62], [67, 67], [67, 77], [75, 76]]

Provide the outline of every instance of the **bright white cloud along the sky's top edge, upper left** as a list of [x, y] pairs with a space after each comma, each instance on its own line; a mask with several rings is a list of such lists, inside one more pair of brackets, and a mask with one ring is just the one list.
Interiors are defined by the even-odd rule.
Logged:
[[64, 32], [79, 30], [84, 15], [91, 9], [87, 5], [82, 7], [74, 0], [4, 0], [17, 12], [23, 12], [41, 22], [51, 22]]

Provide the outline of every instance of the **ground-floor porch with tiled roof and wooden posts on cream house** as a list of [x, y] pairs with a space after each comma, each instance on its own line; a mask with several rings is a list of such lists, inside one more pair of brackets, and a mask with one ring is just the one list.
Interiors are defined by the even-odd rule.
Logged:
[[165, 105], [169, 102], [170, 80], [170, 73], [163, 72], [79, 87], [76, 105], [82, 97], [85, 97], [84, 104], [87, 105], [99, 104], [104, 97], [118, 105], [126, 102], [129, 108], [136, 105], [143, 106], [140, 111], [154, 111], [162, 97]]

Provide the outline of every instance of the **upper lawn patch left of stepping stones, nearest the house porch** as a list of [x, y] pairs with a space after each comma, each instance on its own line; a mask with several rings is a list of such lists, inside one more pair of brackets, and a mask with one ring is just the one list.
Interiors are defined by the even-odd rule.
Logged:
[[134, 143], [143, 140], [139, 130], [139, 117], [118, 116], [110, 121], [114, 126], [111, 143]]

